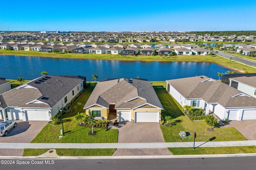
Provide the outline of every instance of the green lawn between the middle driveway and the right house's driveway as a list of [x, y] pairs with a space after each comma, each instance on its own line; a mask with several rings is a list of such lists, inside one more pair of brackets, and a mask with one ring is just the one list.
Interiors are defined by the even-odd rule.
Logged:
[[[162, 85], [161, 85], [162, 84]], [[214, 141], [242, 141], [247, 140], [240, 132], [234, 127], [219, 127], [214, 128], [214, 131], [209, 131], [209, 126], [204, 120], [191, 121], [187, 116], [182, 113], [182, 107], [172, 98], [166, 91], [166, 82], [152, 83], [156, 94], [166, 112], [165, 115], [170, 115], [174, 125], [172, 127], [160, 126], [165, 142], [192, 142], [194, 139], [194, 132], [196, 132], [196, 141], [208, 141], [215, 137]], [[188, 138], [180, 138], [178, 133], [186, 131], [191, 135]]]

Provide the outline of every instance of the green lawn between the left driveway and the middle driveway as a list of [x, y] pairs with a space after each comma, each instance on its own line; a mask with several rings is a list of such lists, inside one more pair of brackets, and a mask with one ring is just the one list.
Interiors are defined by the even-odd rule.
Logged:
[[89, 87], [71, 106], [72, 111], [63, 116], [64, 137], [58, 139], [62, 124], [47, 124], [31, 143], [117, 143], [118, 129], [100, 129], [94, 128], [97, 135], [90, 136], [88, 132], [92, 129], [89, 127], [76, 126], [78, 122], [74, 120], [74, 115], [78, 112], [83, 113], [84, 104], [88, 100], [95, 86]]

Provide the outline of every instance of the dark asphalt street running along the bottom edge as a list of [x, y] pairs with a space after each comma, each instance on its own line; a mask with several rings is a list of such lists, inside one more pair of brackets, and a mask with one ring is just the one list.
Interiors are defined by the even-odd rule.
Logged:
[[[132, 159], [1, 159], [7, 160], [12, 164], [1, 164], [1, 169], [19, 169], [19, 170], [155, 170], [155, 169], [173, 169], [173, 170], [242, 170], [255, 169], [256, 156], [236, 156], [236, 157], [188, 157], [188, 158], [132, 158]], [[20, 161], [28, 161], [29, 164]], [[38, 164], [35, 164], [38, 163]]]

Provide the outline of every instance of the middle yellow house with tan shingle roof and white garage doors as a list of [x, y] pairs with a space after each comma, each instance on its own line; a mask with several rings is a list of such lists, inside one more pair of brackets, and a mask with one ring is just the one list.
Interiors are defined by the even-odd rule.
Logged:
[[112, 115], [118, 121], [159, 122], [163, 107], [149, 81], [119, 78], [97, 83], [84, 109], [97, 119]]

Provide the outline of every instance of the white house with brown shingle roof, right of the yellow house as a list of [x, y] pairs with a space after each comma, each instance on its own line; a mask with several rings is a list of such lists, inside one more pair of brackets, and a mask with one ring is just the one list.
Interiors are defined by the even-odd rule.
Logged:
[[220, 119], [256, 119], [256, 98], [207, 76], [166, 80], [167, 91], [181, 105], [213, 112]]

